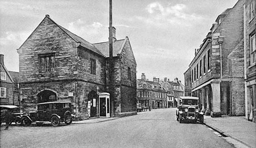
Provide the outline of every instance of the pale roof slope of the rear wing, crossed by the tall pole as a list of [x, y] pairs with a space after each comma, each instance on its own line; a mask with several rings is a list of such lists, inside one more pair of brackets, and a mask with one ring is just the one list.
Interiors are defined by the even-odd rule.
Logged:
[[[127, 38], [121, 40], [115, 40], [113, 42], [113, 57], [120, 54], [122, 47], [124, 46]], [[93, 44], [99, 51], [106, 57], [109, 57], [109, 42], [94, 43]]]

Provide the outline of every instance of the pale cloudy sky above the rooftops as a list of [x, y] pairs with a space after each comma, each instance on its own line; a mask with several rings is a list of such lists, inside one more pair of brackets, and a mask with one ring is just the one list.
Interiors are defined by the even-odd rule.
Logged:
[[[218, 15], [238, 0], [112, 0], [116, 38], [128, 36], [137, 79], [160, 80], [184, 72]], [[0, 0], [0, 54], [19, 71], [16, 52], [48, 14], [90, 43], [108, 41], [109, 0]]]

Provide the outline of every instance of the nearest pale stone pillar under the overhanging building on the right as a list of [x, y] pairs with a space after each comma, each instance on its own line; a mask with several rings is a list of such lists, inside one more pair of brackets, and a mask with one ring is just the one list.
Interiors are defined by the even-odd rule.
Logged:
[[212, 88], [212, 112], [211, 117], [221, 117], [221, 84], [211, 83]]

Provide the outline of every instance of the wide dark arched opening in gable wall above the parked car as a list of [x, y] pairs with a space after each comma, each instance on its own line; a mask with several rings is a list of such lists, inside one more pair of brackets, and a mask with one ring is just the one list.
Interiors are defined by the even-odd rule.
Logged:
[[50, 89], [39, 91], [37, 97], [37, 103], [57, 101], [57, 93]]

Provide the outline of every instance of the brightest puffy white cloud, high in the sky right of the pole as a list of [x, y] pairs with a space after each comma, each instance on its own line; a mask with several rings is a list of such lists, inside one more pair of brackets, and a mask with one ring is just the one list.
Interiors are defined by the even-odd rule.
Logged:
[[190, 26], [192, 23], [202, 21], [203, 17], [195, 13], [189, 14], [185, 4], [168, 5], [163, 7], [159, 2], [150, 3], [146, 7], [148, 16], [136, 16], [137, 20], [144, 23], [168, 26], [168, 25], [182, 25]]

